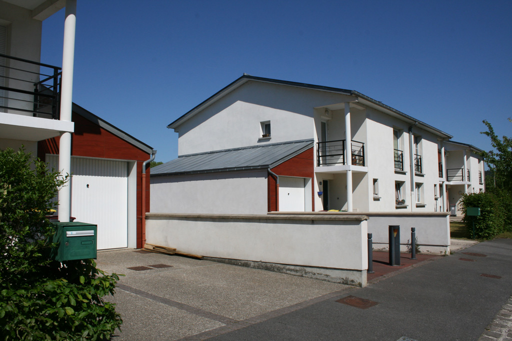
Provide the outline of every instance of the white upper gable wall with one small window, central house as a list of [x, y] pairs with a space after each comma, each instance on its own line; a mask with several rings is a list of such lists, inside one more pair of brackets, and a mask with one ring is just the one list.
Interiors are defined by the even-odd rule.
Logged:
[[[314, 107], [343, 95], [248, 81], [184, 122], [177, 131], [178, 154], [313, 139]], [[270, 139], [260, 122], [270, 121]]]

